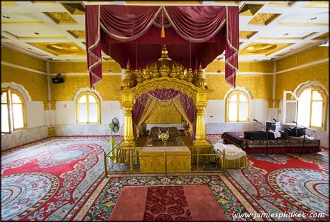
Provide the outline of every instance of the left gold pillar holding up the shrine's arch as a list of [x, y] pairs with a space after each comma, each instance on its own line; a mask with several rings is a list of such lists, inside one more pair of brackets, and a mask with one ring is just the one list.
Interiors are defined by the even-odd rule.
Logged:
[[135, 146], [134, 134], [133, 134], [133, 94], [132, 93], [123, 93], [123, 108], [125, 112], [124, 124], [124, 142], [122, 146]]

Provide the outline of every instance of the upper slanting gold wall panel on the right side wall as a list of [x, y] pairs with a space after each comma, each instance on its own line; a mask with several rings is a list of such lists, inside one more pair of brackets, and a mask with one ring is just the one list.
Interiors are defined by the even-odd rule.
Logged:
[[329, 47], [317, 46], [276, 61], [276, 71], [290, 69], [292, 67], [304, 65], [309, 62], [315, 62], [324, 58], [329, 58]]

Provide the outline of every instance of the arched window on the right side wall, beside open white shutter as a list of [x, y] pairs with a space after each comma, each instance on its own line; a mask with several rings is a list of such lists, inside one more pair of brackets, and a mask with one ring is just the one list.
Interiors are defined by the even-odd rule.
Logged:
[[306, 87], [298, 96], [297, 123], [308, 128], [324, 130], [327, 113], [327, 94], [320, 87]]

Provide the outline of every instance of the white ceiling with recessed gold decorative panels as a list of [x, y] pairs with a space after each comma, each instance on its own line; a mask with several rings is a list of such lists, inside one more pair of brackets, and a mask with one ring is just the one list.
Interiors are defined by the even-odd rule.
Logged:
[[85, 6], [99, 3], [239, 6], [239, 60], [328, 46], [328, 1], [1, 1], [1, 45], [44, 60], [86, 60]]

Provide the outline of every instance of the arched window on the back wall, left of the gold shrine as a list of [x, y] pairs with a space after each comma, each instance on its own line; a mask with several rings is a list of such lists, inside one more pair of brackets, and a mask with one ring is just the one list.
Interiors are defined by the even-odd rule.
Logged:
[[77, 123], [100, 123], [100, 99], [93, 92], [81, 92], [76, 99]]

